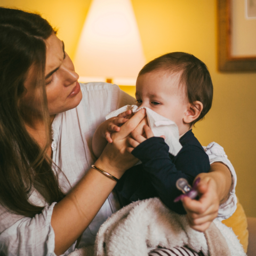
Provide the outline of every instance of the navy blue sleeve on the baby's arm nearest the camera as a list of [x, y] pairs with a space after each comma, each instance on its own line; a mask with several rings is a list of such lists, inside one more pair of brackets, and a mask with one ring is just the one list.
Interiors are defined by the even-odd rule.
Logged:
[[170, 157], [169, 146], [164, 139], [152, 137], [140, 143], [132, 154], [142, 162], [143, 170], [150, 175], [151, 183], [162, 202], [169, 209], [186, 214], [181, 202], [173, 202], [181, 194], [175, 184], [179, 178], [185, 178], [192, 185], [197, 174], [209, 171], [209, 157], [204, 150], [185, 145], [176, 157]]

